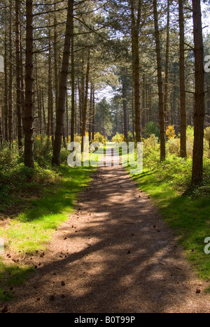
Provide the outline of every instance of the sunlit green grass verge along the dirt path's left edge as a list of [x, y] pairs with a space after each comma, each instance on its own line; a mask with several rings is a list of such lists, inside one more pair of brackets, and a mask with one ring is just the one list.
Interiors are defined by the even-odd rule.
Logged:
[[[0, 228], [6, 253], [34, 254], [45, 249], [53, 231], [73, 212], [78, 194], [90, 182], [92, 172], [92, 168], [62, 166], [61, 180], [45, 189], [40, 199], [31, 201], [31, 208], [10, 221], [8, 228]], [[10, 300], [13, 287], [27, 279], [31, 271], [33, 268], [29, 266], [8, 266], [0, 259], [0, 302]]]

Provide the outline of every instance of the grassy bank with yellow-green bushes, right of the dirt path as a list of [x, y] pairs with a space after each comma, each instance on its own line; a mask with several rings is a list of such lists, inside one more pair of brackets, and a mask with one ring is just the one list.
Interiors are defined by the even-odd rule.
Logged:
[[[204, 162], [204, 183], [186, 191], [191, 159], [169, 156], [160, 163], [158, 155], [145, 158], [144, 172], [133, 176], [139, 188], [149, 194], [186, 250], [186, 256], [201, 279], [210, 282], [210, 255], [204, 253], [204, 239], [210, 237], [210, 161]], [[210, 292], [210, 287], [207, 290]]]

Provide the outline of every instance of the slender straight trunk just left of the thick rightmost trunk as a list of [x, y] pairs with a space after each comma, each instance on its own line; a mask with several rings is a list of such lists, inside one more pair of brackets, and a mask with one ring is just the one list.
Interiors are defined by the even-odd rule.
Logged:
[[183, 0], [179, 0], [179, 35], [180, 35], [180, 117], [181, 117], [181, 157], [187, 157], [186, 146], [186, 69], [185, 69], [185, 27], [183, 17]]

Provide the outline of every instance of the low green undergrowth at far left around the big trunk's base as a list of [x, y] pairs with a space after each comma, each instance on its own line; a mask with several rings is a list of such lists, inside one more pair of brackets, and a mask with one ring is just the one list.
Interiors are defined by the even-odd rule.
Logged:
[[[37, 196], [45, 185], [57, 179], [57, 171], [51, 166], [51, 140], [47, 136], [36, 136], [34, 140], [34, 169], [25, 167], [23, 158], [16, 142], [12, 147], [5, 143], [0, 148], [0, 212], [15, 212], [27, 198]], [[66, 161], [62, 149], [64, 158]]]

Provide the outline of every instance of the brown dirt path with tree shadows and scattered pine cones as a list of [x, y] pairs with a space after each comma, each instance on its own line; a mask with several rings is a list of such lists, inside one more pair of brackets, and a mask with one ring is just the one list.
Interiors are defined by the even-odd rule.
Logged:
[[[122, 167], [99, 168], [10, 312], [210, 312], [172, 231]], [[201, 293], [196, 293], [197, 289]]]

